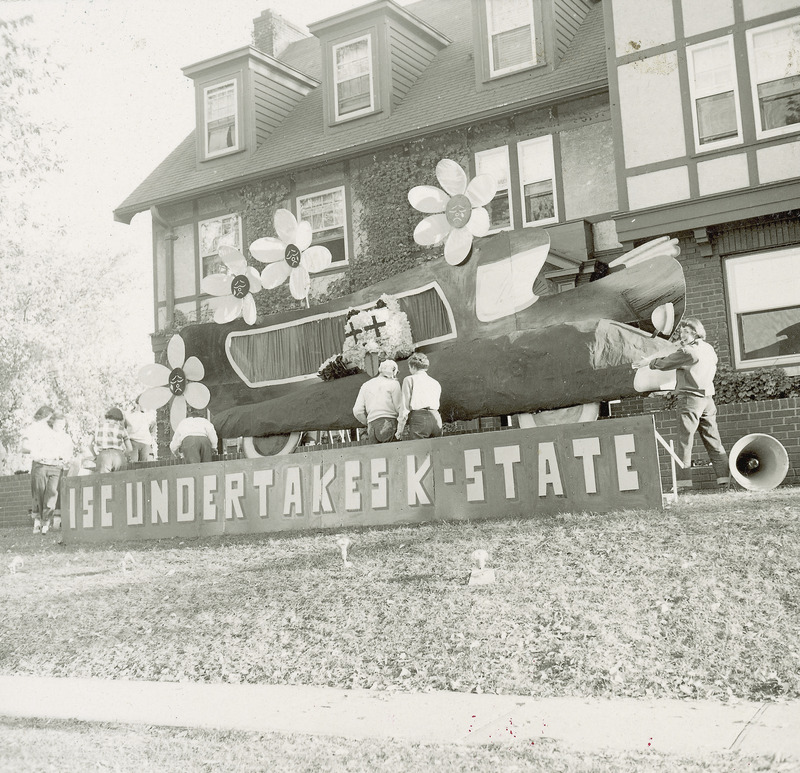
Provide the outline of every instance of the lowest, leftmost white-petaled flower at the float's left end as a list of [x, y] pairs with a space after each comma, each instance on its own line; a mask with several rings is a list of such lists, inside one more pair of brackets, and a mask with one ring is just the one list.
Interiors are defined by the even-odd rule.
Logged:
[[179, 335], [174, 335], [167, 344], [166, 365], [153, 363], [139, 371], [139, 381], [150, 387], [139, 395], [139, 405], [146, 411], [154, 411], [172, 400], [169, 423], [176, 429], [186, 418], [186, 405], [205, 408], [211, 393], [199, 382], [205, 375], [203, 363], [197, 357], [186, 359], [186, 346]]

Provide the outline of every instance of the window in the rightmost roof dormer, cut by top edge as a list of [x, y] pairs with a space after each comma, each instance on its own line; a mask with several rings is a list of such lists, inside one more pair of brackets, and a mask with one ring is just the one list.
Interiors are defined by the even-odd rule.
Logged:
[[489, 75], [536, 64], [533, 0], [486, 0]]

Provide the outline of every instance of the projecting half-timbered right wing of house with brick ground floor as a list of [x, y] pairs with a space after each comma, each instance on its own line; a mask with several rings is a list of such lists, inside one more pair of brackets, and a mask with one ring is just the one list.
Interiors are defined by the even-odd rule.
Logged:
[[733, 369], [800, 372], [800, 3], [604, 0], [625, 246], [680, 236]]

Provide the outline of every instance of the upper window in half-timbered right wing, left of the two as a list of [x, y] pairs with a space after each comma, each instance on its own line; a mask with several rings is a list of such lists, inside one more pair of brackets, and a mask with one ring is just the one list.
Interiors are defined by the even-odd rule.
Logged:
[[728, 36], [689, 46], [689, 91], [698, 151], [742, 140], [733, 39]]

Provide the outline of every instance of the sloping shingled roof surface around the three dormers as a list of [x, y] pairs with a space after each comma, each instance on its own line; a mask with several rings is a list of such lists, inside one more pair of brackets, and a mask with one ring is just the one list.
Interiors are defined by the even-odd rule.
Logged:
[[[130, 222], [153, 204], [192, 198], [250, 180], [434, 134], [450, 127], [497, 118], [607, 88], [603, 16], [597, 4], [584, 19], [558, 67], [530, 79], [502, 79], [478, 89], [473, 61], [472, 4], [465, 0], [420, 0], [406, 6], [452, 41], [420, 75], [402, 103], [383, 120], [355, 120], [325, 131], [321, 88], [306, 96], [254, 153], [224, 164], [199, 164], [192, 132], [114, 211]], [[280, 57], [288, 66], [321, 80], [320, 42], [293, 43]]]

